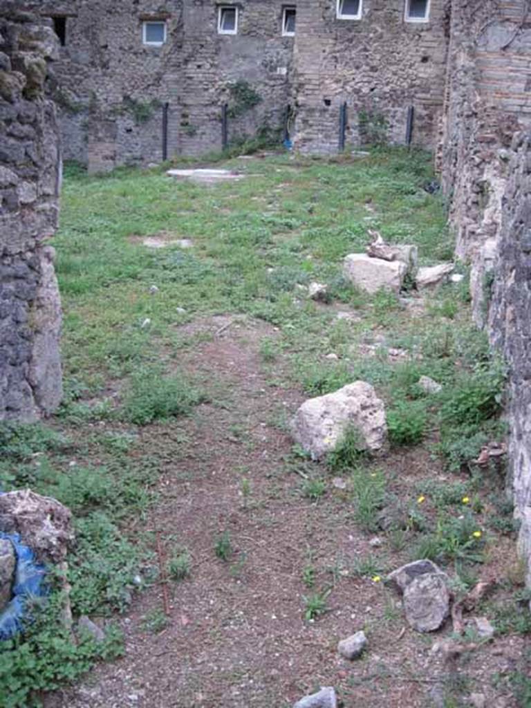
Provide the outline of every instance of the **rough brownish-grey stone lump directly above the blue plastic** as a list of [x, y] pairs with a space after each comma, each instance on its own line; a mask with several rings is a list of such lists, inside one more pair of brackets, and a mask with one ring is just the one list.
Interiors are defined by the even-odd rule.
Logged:
[[69, 509], [29, 489], [0, 495], [0, 531], [18, 533], [40, 563], [63, 561], [74, 542]]

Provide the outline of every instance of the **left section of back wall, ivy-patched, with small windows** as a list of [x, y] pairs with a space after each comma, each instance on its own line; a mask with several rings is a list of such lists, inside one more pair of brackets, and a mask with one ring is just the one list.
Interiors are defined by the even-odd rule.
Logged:
[[[283, 4], [235, 6], [232, 35], [218, 33], [215, 0], [171, 0], [161, 11], [148, 0], [133, 10], [127, 0], [45, 0], [40, 12], [64, 27], [52, 93], [64, 158], [96, 172], [159, 162], [165, 139], [168, 157], [221, 149], [224, 103], [232, 141], [282, 125], [293, 45], [282, 36]], [[166, 23], [160, 46], [144, 43], [146, 21]], [[234, 100], [236, 82], [256, 92], [256, 105]]]

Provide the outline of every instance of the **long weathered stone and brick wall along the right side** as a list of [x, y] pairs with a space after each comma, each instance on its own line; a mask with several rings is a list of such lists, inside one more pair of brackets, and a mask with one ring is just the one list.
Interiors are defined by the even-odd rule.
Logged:
[[440, 164], [474, 319], [509, 368], [509, 487], [531, 585], [529, 12], [527, 0], [453, 4]]

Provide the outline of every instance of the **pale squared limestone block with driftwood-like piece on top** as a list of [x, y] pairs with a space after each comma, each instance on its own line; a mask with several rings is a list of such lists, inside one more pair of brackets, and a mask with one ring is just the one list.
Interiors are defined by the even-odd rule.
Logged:
[[343, 262], [343, 275], [360, 290], [375, 293], [380, 288], [399, 292], [408, 265], [402, 261], [370, 258], [365, 253], [350, 253]]

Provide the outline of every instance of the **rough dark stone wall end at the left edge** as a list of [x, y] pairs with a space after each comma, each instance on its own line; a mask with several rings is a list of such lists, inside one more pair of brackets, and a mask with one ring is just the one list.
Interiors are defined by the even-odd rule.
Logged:
[[57, 225], [59, 147], [44, 97], [57, 40], [0, 0], [0, 421], [33, 421], [62, 395], [61, 309], [45, 239]]

